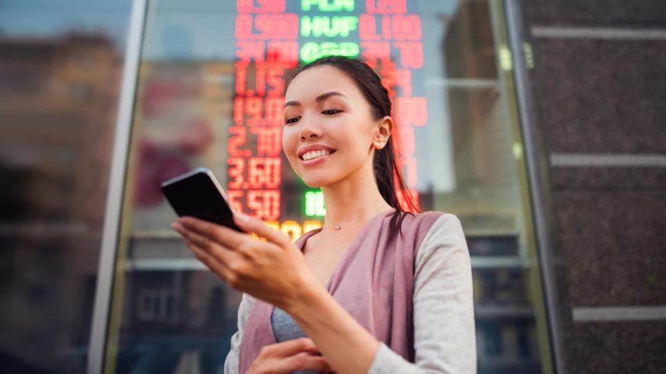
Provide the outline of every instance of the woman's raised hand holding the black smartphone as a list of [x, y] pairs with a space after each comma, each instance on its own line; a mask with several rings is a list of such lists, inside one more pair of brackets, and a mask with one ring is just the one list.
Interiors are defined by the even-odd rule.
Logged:
[[231, 287], [288, 308], [303, 286], [312, 284], [303, 254], [282, 231], [259, 220], [234, 214], [234, 222], [266, 241], [195, 217], [180, 217], [171, 227], [185, 238], [194, 256]]

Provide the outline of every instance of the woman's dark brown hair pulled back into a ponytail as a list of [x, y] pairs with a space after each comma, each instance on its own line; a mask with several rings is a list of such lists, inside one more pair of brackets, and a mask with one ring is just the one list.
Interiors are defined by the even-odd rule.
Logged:
[[[388, 97], [386, 88], [382, 86], [379, 75], [366, 63], [349, 57], [326, 56], [299, 66], [287, 74], [285, 89], [289, 87], [296, 75], [316, 66], [332, 66], [351, 78], [370, 105], [375, 121], [379, 121], [385, 116], [391, 116], [391, 98]], [[393, 127], [393, 134], [388, 143], [381, 150], [375, 150], [373, 157], [373, 171], [379, 193], [382, 194], [388, 205], [395, 208], [395, 213], [389, 223], [391, 240], [400, 231], [398, 229], [402, 226], [404, 215], [419, 212], [418, 203], [407, 190], [407, 185], [402, 177], [396, 127], [398, 126]]]

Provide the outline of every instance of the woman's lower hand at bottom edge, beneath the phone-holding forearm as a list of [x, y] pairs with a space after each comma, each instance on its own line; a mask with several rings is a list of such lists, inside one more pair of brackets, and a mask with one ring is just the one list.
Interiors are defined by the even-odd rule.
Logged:
[[296, 370], [331, 371], [327, 359], [309, 338], [293, 339], [264, 346], [246, 374], [282, 374]]

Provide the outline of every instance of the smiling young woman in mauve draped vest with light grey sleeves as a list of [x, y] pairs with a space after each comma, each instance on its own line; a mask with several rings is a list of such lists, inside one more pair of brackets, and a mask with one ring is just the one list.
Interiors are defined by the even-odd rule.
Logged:
[[321, 187], [323, 227], [291, 243], [240, 214], [237, 224], [266, 241], [191, 217], [173, 224], [196, 258], [244, 292], [225, 373], [476, 372], [460, 222], [404, 211], [395, 130], [370, 67], [311, 62], [288, 81], [282, 148]]

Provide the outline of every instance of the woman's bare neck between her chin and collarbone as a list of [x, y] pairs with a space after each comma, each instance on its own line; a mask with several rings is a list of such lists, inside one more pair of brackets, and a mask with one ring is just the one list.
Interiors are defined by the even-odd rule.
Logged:
[[321, 188], [326, 202], [326, 225], [368, 220], [391, 209], [375, 182], [372, 157], [357, 172]]

